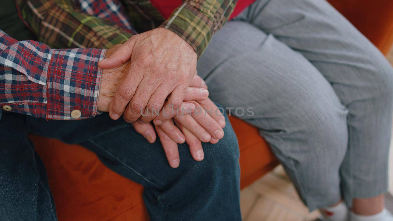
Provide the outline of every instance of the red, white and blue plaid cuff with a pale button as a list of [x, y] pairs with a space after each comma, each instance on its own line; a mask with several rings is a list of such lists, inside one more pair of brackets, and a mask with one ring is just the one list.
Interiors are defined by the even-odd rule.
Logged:
[[[101, 68], [98, 61], [106, 50], [66, 49], [54, 50], [48, 67], [46, 119], [81, 120], [97, 113]], [[81, 117], [74, 119], [73, 110]]]

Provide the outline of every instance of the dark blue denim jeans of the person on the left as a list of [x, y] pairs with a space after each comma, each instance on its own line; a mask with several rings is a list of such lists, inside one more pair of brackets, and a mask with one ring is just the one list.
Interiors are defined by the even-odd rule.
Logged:
[[45, 167], [27, 134], [57, 138], [94, 151], [108, 168], [142, 184], [151, 220], [241, 220], [239, 147], [226, 117], [224, 138], [203, 143], [195, 161], [179, 145], [171, 168], [160, 141], [149, 144], [130, 123], [107, 113], [79, 121], [46, 121], [3, 112], [0, 120], [0, 220], [57, 220]]

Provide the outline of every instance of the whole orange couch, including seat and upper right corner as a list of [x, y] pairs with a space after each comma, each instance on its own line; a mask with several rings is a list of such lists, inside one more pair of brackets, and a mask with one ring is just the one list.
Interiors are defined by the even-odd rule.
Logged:
[[[329, 0], [383, 53], [393, 43], [393, 1]], [[230, 121], [240, 146], [241, 188], [277, 164], [258, 130], [237, 118]], [[78, 145], [31, 136], [45, 163], [59, 220], [149, 220], [143, 187], [106, 168]]]

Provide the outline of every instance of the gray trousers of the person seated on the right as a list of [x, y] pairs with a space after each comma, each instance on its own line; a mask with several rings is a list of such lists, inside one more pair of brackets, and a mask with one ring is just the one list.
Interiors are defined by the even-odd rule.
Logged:
[[386, 192], [393, 70], [325, 0], [257, 0], [214, 35], [197, 69], [231, 115], [253, 108], [239, 117], [260, 129], [310, 210]]

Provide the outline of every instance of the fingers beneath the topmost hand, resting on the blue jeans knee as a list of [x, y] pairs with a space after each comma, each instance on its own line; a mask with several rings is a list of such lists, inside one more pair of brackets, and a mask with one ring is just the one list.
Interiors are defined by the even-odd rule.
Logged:
[[[185, 140], [189, 145], [193, 158], [200, 161], [204, 158], [201, 140], [216, 144], [224, 136], [222, 128], [225, 127], [225, 118], [209, 98], [188, 102], [195, 105], [191, 114], [179, 114], [161, 125], [154, 125], [169, 165], [173, 168], [177, 168], [180, 164], [178, 143], [181, 144]], [[205, 109], [209, 111], [206, 115]], [[210, 110], [212, 111], [210, 112]], [[174, 123], [176, 123], [177, 127]], [[156, 133], [154, 133], [151, 123], [140, 123], [137, 121], [133, 122], [132, 125], [149, 142], [153, 143], [156, 141]]]

